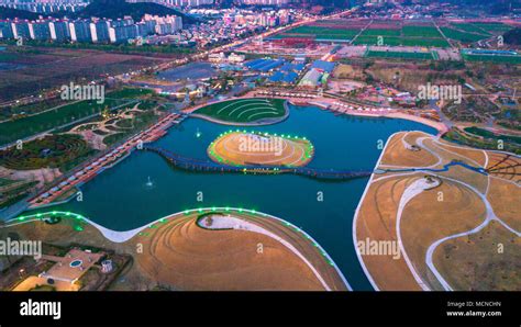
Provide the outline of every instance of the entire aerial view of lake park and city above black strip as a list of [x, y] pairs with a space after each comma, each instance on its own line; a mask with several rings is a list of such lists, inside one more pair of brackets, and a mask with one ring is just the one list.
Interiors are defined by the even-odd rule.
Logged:
[[521, 291], [521, 5], [0, 0], [0, 291]]

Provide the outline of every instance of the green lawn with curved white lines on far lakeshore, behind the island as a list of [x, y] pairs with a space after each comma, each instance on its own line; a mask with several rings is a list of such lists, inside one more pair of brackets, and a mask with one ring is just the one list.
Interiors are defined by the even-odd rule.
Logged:
[[254, 123], [282, 117], [286, 113], [284, 103], [282, 99], [237, 99], [203, 106], [196, 113], [231, 123]]

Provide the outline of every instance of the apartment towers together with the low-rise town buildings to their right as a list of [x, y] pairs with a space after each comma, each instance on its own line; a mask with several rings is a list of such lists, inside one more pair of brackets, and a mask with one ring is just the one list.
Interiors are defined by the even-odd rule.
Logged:
[[[200, 13], [202, 14], [202, 13]], [[202, 14], [204, 15], [204, 14]], [[212, 10], [209, 20], [184, 26], [177, 15], [145, 14], [140, 22], [130, 16], [109, 19], [0, 20], [0, 40], [35, 40], [42, 42], [136, 43], [206, 46], [233, 40], [267, 27], [289, 24], [292, 10], [253, 12], [251, 10]]]

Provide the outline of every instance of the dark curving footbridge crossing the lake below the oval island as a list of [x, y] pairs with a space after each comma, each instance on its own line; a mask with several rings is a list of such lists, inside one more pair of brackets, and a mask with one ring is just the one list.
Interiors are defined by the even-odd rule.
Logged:
[[186, 170], [201, 172], [235, 172], [235, 173], [258, 173], [258, 174], [279, 174], [293, 173], [315, 179], [347, 180], [361, 177], [368, 177], [373, 170], [340, 170], [340, 169], [317, 169], [308, 167], [288, 167], [288, 166], [228, 166], [210, 160], [200, 160], [179, 156], [173, 151], [154, 146], [143, 146], [143, 150], [153, 151], [165, 158], [171, 165]]

